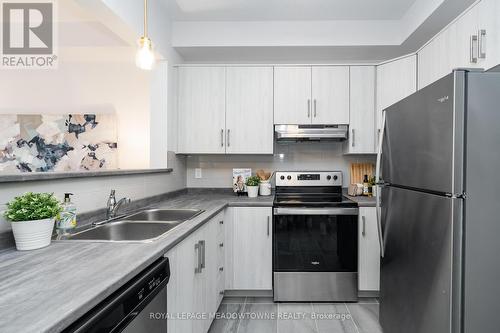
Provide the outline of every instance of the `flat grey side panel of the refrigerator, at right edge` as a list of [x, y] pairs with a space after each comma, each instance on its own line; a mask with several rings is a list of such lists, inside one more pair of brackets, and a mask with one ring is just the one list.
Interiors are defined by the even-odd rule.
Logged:
[[498, 332], [500, 73], [469, 77], [463, 332]]

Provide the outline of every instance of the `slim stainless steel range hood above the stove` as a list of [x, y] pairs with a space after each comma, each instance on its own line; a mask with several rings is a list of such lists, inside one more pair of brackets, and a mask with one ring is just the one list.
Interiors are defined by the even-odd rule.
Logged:
[[275, 125], [277, 141], [344, 141], [348, 125]]

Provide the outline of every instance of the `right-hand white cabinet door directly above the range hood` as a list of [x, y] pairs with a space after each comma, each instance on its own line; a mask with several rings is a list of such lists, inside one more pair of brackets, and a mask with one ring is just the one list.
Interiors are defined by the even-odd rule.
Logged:
[[349, 124], [349, 67], [312, 68], [312, 123]]

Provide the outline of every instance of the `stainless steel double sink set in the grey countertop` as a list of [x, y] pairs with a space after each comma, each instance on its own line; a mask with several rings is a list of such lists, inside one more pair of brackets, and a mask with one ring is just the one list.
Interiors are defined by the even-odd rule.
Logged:
[[199, 209], [148, 209], [58, 239], [151, 242], [201, 213]]

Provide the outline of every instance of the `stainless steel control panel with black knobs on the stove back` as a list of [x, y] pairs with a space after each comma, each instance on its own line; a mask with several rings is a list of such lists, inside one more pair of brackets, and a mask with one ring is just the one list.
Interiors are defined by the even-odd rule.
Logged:
[[278, 171], [276, 186], [342, 186], [342, 171]]

